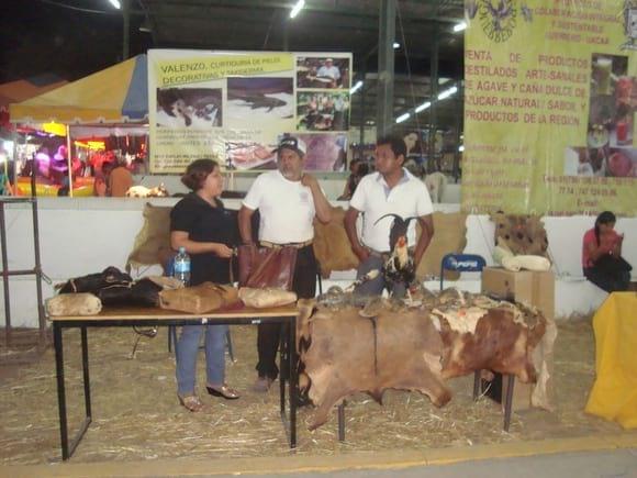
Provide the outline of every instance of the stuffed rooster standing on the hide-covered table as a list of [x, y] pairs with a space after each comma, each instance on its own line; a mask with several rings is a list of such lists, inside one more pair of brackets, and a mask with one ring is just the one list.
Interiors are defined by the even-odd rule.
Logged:
[[385, 214], [376, 224], [388, 216], [393, 216], [394, 220], [389, 233], [390, 255], [384, 263], [383, 276], [389, 284], [404, 284], [409, 294], [409, 287], [416, 278], [416, 268], [407, 251], [407, 229], [410, 222], [417, 218], [402, 219], [398, 214]]

